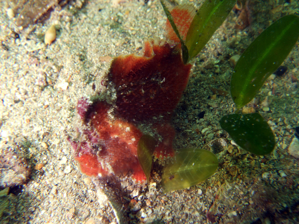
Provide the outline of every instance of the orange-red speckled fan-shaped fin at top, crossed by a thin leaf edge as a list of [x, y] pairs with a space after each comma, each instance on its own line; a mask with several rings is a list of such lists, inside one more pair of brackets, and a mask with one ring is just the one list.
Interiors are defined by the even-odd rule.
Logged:
[[[195, 8], [191, 5], [177, 5], [171, 10], [170, 14], [173, 17], [173, 21], [176, 24], [182, 39], [185, 40], [193, 17], [196, 14]], [[168, 39], [180, 43], [180, 40], [173, 31], [168, 19], [166, 21], [165, 31]]]

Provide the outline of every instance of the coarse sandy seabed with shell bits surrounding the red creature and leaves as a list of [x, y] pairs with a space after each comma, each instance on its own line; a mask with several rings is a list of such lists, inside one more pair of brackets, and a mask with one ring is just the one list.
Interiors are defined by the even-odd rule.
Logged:
[[[199, 7], [203, 1], [185, 2]], [[222, 151], [218, 170], [199, 185], [167, 194], [159, 183], [161, 171], [155, 171], [157, 181], [149, 188], [124, 186], [128, 197], [122, 200], [130, 206], [131, 223], [299, 223], [298, 159], [288, 153], [299, 120], [298, 42], [284, 62], [286, 73], [270, 76], [250, 103], [274, 130], [273, 153], [239, 151], [219, 125], [222, 116], [234, 111], [230, 94], [215, 90], [229, 92], [231, 56], [241, 55], [276, 19], [298, 11], [294, 0], [252, 0], [247, 6], [250, 26], [235, 29], [238, 15], [232, 11], [194, 59], [172, 119], [173, 147]], [[16, 17], [9, 18], [9, 7], [0, 2], [0, 153], [8, 144], [21, 145], [19, 153], [32, 173], [5, 200], [0, 197], [0, 203], [9, 202], [1, 204], [0, 223], [117, 223], [100, 186], [80, 172], [66, 134], [75, 137], [77, 100], [92, 93], [110, 59], [140, 53], [146, 39], [164, 38], [160, 1], [113, 5], [91, 0], [76, 13], [69, 5], [56, 7], [47, 20], [24, 29], [16, 26]], [[45, 45], [43, 34], [52, 24], [56, 40]], [[205, 116], [199, 118], [202, 111]], [[226, 146], [219, 147], [218, 139]], [[140, 208], [128, 205], [132, 199]]]

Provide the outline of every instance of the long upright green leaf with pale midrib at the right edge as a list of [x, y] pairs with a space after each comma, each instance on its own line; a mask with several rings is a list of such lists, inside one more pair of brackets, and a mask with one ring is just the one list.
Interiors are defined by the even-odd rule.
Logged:
[[254, 98], [266, 79], [286, 59], [299, 37], [299, 17], [283, 16], [246, 48], [231, 76], [231, 96], [237, 108]]

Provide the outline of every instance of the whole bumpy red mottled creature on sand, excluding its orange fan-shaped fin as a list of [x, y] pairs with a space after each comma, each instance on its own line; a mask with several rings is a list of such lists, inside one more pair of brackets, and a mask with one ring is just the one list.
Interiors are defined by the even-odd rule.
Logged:
[[86, 97], [78, 100], [80, 140], [71, 143], [75, 159], [86, 175], [129, 172], [133, 179], [144, 181], [137, 158], [143, 133], [137, 125], [152, 123], [162, 137], [154, 152], [156, 157], [174, 155], [175, 131], [169, 122], [187, 85], [191, 65], [182, 63], [179, 47], [167, 43], [147, 41], [143, 52], [144, 56], [131, 54], [113, 60], [106, 82], [107, 88], [116, 90], [113, 106], [105, 101], [91, 102]]

